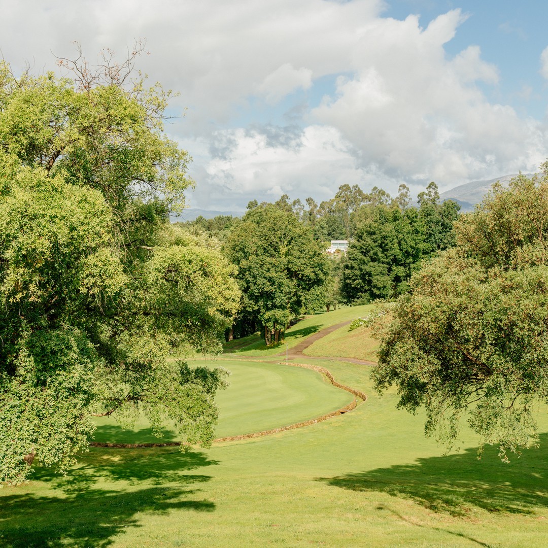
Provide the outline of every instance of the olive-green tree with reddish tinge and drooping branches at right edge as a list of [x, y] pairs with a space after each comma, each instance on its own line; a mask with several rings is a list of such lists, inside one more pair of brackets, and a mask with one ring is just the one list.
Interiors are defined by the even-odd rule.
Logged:
[[398, 406], [424, 407], [426, 434], [448, 447], [464, 415], [505, 460], [534, 436], [548, 402], [547, 221], [546, 176], [494, 185], [376, 326], [376, 389], [396, 384]]

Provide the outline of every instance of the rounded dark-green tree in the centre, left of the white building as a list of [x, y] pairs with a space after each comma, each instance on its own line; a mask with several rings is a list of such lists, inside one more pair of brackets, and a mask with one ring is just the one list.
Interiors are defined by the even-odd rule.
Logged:
[[277, 204], [248, 210], [232, 227], [225, 254], [238, 268], [239, 321], [260, 326], [267, 345], [283, 337], [327, 275], [327, 258], [310, 227]]

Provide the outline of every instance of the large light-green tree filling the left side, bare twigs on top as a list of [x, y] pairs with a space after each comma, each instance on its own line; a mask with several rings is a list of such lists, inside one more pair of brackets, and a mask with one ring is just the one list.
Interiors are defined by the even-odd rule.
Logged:
[[93, 415], [214, 437], [225, 373], [167, 358], [218, 349], [233, 267], [169, 226], [192, 184], [162, 133], [169, 94], [107, 61], [75, 61], [75, 80], [0, 64], [0, 480], [35, 458], [66, 470]]

